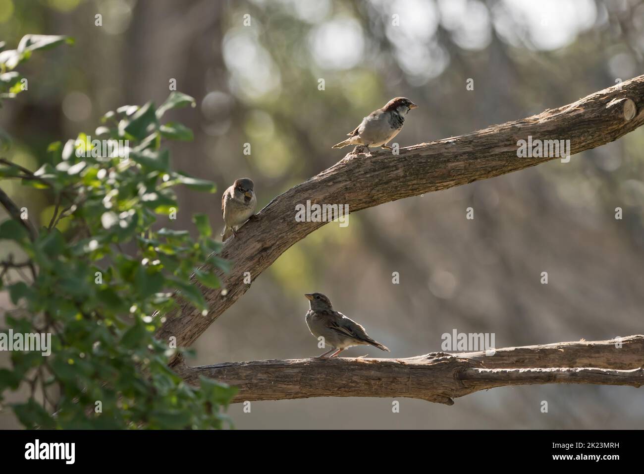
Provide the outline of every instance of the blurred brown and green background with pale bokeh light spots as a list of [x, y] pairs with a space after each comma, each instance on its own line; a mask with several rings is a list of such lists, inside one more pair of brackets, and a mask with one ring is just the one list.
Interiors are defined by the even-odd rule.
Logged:
[[[21, 66], [28, 92], [0, 110], [14, 137], [8, 159], [37, 169], [48, 143], [93, 132], [118, 106], [159, 104], [176, 79], [198, 106], [173, 112], [195, 134], [169, 144], [175, 169], [221, 192], [251, 177], [260, 207], [341, 159], [349, 148], [330, 146], [397, 95], [419, 104], [394, 140], [407, 146], [571, 103], [644, 64], [644, 2], [634, 0], [0, 0], [0, 39], [15, 47], [30, 33], [76, 44]], [[391, 357], [440, 350], [453, 329], [495, 333], [497, 347], [644, 333], [643, 150], [640, 129], [567, 164], [390, 202], [352, 214], [346, 228], [328, 224], [258, 277], [197, 341], [192, 363], [317, 355], [308, 291], [365, 324]], [[42, 195], [2, 186], [32, 219], [51, 212]], [[176, 228], [193, 229], [195, 212], [222, 225], [220, 193], [179, 198]], [[7, 305], [0, 293], [0, 313]], [[383, 355], [346, 355], [367, 352]], [[399, 401], [400, 413], [390, 399], [339, 398], [229, 413], [240, 429], [644, 426], [644, 391], [630, 387], [498, 388], [451, 407]], [[0, 428], [17, 426], [0, 412]]]

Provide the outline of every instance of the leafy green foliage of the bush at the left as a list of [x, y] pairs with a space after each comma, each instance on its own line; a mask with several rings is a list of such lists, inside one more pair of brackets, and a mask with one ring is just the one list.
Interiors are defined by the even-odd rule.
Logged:
[[[66, 41], [26, 38], [1, 56], [3, 72], [35, 49]], [[0, 402], [7, 390], [32, 388], [27, 402], [12, 405], [26, 428], [229, 423], [222, 408], [235, 390], [205, 379], [199, 388], [187, 386], [167, 367], [176, 351], [170, 341], [154, 337], [161, 324], [156, 313], [173, 308], [177, 298], [207, 310], [191, 275], [210, 288], [219, 281], [198, 270], [200, 264], [227, 270], [227, 262], [216, 257], [221, 244], [211, 238], [204, 215], [194, 216], [194, 239], [187, 230], [155, 230], [158, 217], [172, 218], [178, 210], [175, 186], [215, 191], [214, 183], [173, 171], [162, 148], [162, 139], [192, 138], [182, 124], [162, 124], [166, 112], [189, 104], [194, 99], [173, 92], [159, 108], [147, 103], [108, 112], [95, 137], [81, 134], [51, 144], [50, 161], [33, 173], [6, 160], [0, 164], [1, 179], [20, 179], [56, 203], [49, 225], [33, 239], [23, 222], [0, 223], [0, 245], [12, 241], [28, 258], [20, 264], [26, 273], [22, 281], [7, 279], [14, 262], [0, 262], [0, 284], [17, 305], [6, 323], [14, 333], [52, 333], [50, 356], [13, 351], [12, 368], [0, 370]], [[57, 386], [60, 395], [43, 403], [36, 396], [42, 386], [49, 394]]]

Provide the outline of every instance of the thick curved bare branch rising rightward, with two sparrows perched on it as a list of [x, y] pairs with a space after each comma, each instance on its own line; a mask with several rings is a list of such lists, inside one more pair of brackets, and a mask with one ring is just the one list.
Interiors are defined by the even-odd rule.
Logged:
[[[570, 140], [570, 154], [614, 141], [644, 123], [644, 75], [595, 92], [579, 101], [546, 110], [526, 119], [485, 130], [422, 143], [391, 152], [354, 152], [327, 170], [279, 195], [228, 239], [221, 256], [234, 262], [227, 275], [218, 274], [222, 289], [203, 288], [209, 313], [203, 316], [187, 302], [165, 315], [156, 336], [176, 337], [190, 346], [254, 280], [290, 246], [325, 222], [296, 222], [296, 204], [348, 204], [350, 212], [405, 197], [491, 178], [553, 157], [517, 157], [517, 142], [529, 136], [540, 140]], [[566, 166], [565, 163], [560, 166]], [[225, 291], [223, 291], [225, 290]], [[356, 362], [364, 364], [365, 362]]]

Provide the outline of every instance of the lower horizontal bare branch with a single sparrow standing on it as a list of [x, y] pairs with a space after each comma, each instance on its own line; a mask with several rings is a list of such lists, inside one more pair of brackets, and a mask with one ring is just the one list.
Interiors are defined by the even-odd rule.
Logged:
[[208, 377], [237, 386], [233, 402], [310, 397], [406, 397], [453, 404], [475, 391], [525, 384], [644, 385], [644, 335], [408, 359], [225, 362], [175, 370], [190, 384]]

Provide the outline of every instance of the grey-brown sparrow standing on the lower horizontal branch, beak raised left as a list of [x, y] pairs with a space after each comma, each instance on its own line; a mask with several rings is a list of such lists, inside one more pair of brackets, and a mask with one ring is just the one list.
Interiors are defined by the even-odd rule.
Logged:
[[325, 357], [337, 349], [329, 356], [336, 357], [346, 348], [360, 344], [365, 346], [371, 344], [383, 351], [388, 351], [383, 344], [371, 339], [360, 324], [334, 310], [329, 299], [322, 293], [306, 293], [305, 297], [310, 307], [307, 311], [308, 330], [315, 337], [324, 337], [325, 344], [332, 346], [331, 350], [319, 357]]

